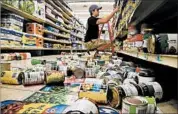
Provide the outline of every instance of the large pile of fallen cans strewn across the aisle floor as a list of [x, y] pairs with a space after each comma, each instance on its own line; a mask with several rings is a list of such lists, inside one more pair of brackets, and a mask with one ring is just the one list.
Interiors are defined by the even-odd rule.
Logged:
[[[136, 67], [117, 56], [99, 53], [96, 58], [86, 58], [62, 53], [54, 61], [32, 59], [31, 64], [33, 67], [23, 71], [1, 74], [1, 82], [6, 84], [46, 84], [22, 101], [23, 109], [16, 113], [32, 113], [44, 105], [33, 113], [49, 113], [58, 107], [53, 113], [155, 114], [156, 102], [163, 97], [152, 69]], [[35, 107], [30, 111], [27, 105], [32, 104]], [[1, 106], [1, 111], [5, 109]]]

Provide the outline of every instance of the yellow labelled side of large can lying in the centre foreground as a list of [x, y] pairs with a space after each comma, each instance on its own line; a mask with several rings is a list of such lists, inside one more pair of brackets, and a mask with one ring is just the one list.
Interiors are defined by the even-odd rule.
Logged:
[[97, 103], [106, 104], [107, 91], [106, 85], [83, 83], [80, 85], [79, 98], [89, 98]]

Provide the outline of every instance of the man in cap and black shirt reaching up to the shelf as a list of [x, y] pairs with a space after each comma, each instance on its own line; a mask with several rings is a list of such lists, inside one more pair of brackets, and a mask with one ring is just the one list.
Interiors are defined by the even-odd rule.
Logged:
[[115, 9], [109, 15], [103, 18], [98, 18], [99, 10], [101, 9], [102, 7], [99, 7], [97, 5], [91, 5], [89, 7], [89, 13], [91, 16], [88, 18], [87, 21], [87, 31], [85, 35], [85, 46], [88, 49], [93, 49], [96, 44], [99, 46], [99, 44], [101, 43], [101, 41], [99, 40], [99, 24], [108, 23], [110, 19], [114, 16], [114, 14], [119, 11], [119, 7], [116, 6]]

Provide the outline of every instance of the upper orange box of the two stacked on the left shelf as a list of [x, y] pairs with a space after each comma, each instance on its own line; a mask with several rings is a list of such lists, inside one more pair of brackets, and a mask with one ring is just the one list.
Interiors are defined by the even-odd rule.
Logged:
[[44, 27], [38, 23], [27, 23], [26, 24], [26, 32], [35, 35], [43, 35]]

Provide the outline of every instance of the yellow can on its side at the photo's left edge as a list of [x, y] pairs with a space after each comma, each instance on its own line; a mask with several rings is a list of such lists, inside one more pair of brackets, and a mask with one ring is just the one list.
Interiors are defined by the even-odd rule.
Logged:
[[20, 85], [22, 84], [22, 75], [21, 72], [4, 71], [1, 72], [0, 80], [3, 84]]

